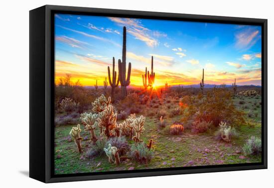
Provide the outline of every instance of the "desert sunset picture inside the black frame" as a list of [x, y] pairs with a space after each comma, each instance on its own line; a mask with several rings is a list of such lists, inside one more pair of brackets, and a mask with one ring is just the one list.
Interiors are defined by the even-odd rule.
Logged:
[[262, 162], [262, 28], [55, 14], [55, 175]]

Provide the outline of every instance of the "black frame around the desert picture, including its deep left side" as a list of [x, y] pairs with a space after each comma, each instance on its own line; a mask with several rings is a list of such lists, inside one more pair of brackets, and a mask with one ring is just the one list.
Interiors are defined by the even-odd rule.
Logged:
[[[54, 175], [54, 13], [262, 26], [262, 163]], [[29, 176], [44, 183], [267, 169], [267, 19], [44, 5], [29, 12]]]

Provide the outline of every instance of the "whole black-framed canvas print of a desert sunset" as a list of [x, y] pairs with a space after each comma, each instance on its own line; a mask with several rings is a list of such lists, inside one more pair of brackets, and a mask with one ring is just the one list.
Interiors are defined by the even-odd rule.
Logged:
[[30, 11], [30, 177], [267, 168], [267, 20]]

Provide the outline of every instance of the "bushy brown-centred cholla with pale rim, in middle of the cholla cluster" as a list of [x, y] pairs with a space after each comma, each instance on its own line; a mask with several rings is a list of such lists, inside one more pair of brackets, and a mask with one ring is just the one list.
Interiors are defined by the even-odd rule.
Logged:
[[113, 106], [109, 104], [105, 110], [99, 113], [99, 126], [103, 128], [102, 135], [106, 135], [108, 138], [112, 137], [112, 130], [117, 126], [116, 123], [117, 113], [113, 112]]

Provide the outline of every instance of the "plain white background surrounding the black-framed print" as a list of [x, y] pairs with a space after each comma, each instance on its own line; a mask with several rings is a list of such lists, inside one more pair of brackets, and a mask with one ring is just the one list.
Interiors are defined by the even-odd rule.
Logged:
[[[274, 13], [272, 0], [2, 0], [0, 2], [0, 187], [211, 187], [274, 185]], [[219, 16], [267, 18], [269, 64], [269, 169], [134, 179], [42, 184], [28, 178], [30, 9], [44, 4]]]

